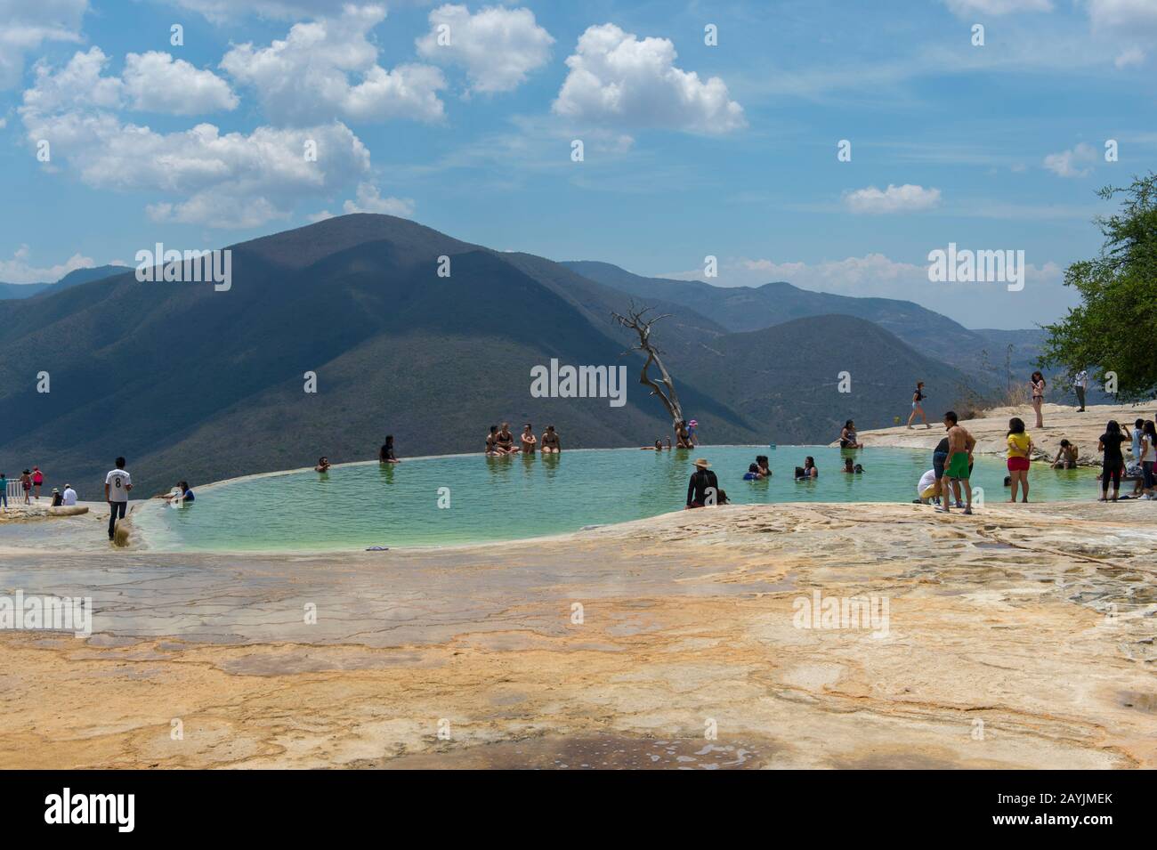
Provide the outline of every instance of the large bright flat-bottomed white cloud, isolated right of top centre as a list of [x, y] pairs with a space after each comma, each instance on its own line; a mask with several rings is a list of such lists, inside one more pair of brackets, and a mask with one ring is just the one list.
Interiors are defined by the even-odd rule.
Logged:
[[640, 40], [611, 23], [590, 27], [567, 58], [570, 71], [552, 108], [596, 125], [702, 133], [746, 126], [743, 108], [729, 99], [720, 77], [703, 82], [677, 68], [676, 57], [666, 38]]

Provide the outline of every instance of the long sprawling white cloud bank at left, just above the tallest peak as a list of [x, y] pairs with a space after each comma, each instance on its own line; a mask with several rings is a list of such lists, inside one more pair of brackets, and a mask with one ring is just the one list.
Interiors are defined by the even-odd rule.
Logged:
[[[369, 150], [339, 121], [224, 134], [212, 124], [159, 133], [123, 123], [108, 108], [123, 93], [94, 72], [101, 65], [93, 49], [73, 57], [62, 77], [39, 68], [19, 110], [27, 139], [47, 140], [52, 162], [93, 189], [175, 195], [147, 207], [154, 220], [257, 227], [287, 217], [302, 197], [332, 195], [369, 173]], [[311, 146], [316, 161], [305, 155]]]

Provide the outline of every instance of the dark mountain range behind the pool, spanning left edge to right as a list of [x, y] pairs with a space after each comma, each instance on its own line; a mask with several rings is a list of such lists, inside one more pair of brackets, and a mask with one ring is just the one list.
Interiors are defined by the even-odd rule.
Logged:
[[[906, 416], [916, 379], [929, 409], [988, 380], [933, 356], [945, 338], [985, 345], [983, 332], [908, 302], [640, 278], [386, 215], [230, 250], [227, 291], [112, 267], [0, 301], [0, 470], [38, 464], [50, 486], [67, 479], [98, 498], [118, 454], [149, 495], [322, 454], [369, 459], [386, 434], [403, 457], [481, 451], [502, 421], [552, 423], [565, 448], [646, 445], [671, 424], [638, 384], [633, 334], [611, 320], [632, 303], [665, 316], [654, 335], [707, 443], [827, 443], [845, 419], [870, 428]], [[530, 370], [552, 359], [626, 364], [626, 405], [532, 398]], [[37, 391], [42, 372], [49, 392]]]

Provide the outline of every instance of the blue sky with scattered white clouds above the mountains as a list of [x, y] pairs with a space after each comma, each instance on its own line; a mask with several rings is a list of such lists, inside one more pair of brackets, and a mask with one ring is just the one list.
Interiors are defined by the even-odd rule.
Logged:
[[[0, 280], [386, 212], [1032, 326], [1096, 190], [1157, 168], [1155, 44], [1154, 0], [0, 0]], [[950, 242], [1023, 250], [1024, 290], [930, 282]]]

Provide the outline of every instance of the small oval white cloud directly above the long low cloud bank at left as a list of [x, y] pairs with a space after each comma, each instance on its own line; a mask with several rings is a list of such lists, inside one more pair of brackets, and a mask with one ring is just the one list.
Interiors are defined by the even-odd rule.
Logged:
[[229, 83], [212, 71], [155, 50], [126, 56], [123, 81], [131, 108], [145, 112], [192, 116], [236, 109], [238, 103]]

